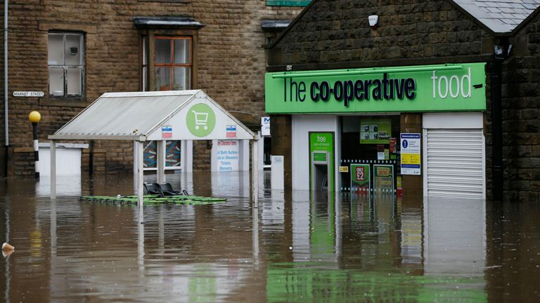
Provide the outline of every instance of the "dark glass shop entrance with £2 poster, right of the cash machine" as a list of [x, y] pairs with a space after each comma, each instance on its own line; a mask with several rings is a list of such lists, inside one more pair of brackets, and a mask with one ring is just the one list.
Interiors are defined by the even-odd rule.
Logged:
[[399, 114], [341, 116], [340, 123], [341, 190], [393, 194], [401, 187]]

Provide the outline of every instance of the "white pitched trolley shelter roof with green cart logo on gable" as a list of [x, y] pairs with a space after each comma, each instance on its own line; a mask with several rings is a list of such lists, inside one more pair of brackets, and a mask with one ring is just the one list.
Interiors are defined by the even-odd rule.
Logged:
[[253, 140], [203, 90], [105, 93], [51, 140]]

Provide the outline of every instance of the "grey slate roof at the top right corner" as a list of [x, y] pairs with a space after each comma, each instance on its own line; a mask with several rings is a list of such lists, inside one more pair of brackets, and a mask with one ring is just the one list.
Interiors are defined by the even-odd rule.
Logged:
[[540, 0], [454, 0], [495, 33], [512, 32], [540, 6]]

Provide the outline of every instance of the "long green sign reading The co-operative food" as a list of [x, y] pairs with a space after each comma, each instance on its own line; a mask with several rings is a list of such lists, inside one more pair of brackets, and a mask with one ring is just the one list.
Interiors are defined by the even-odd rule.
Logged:
[[486, 110], [485, 63], [274, 72], [269, 114]]

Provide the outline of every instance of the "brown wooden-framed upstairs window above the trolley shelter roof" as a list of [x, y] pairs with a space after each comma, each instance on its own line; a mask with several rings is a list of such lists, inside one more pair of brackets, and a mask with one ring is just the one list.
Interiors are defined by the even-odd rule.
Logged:
[[156, 36], [153, 90], [191, 89], [192, 43], [190, 36]]

